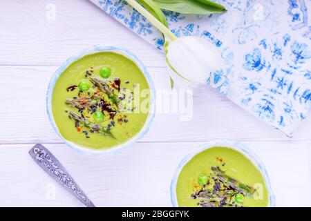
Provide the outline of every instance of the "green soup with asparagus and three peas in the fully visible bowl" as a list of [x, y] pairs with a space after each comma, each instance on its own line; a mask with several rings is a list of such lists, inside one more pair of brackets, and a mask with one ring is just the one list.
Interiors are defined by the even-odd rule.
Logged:
[[107, 149], [142, 130], [149, 102], [147, 80], [131, 59], [114, 52], [96, 52], [73, 62], [59, 76], [52, 112], [66, 140], [86, 148]]

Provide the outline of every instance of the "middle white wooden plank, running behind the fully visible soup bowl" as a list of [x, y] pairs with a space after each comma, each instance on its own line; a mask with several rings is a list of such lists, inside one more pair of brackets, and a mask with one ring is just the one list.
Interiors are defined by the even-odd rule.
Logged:
[[[0, 143], [60, 142], [46, 115], [46, 88], [57, 67], [0, 66]], [[149, 68], [158, 89], [171, 91], [165, 68]], [[180, 114], [158, 113], [144, 142], [236, 140], [290, 140], [280, 131], [243, 111], [208, 86], [194, 91], [193, 119]], [[205, 111], [202, 111], [205, 110]], [[310, 117], [301, 124], [294, 140], [310, 140]]]

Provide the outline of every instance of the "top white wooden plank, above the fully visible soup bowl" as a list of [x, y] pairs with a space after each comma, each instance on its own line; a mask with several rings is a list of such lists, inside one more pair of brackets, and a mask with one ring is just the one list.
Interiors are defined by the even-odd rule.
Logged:
[[128, 48], [147, 66], [165, 66], [160, 51], [89, 1], [6, 1], [0, 27], [0, 65], [59, 66], [99, 44]]

